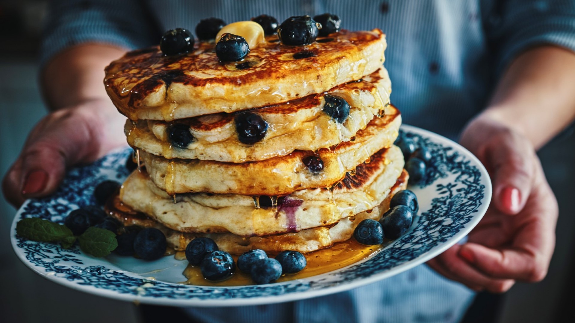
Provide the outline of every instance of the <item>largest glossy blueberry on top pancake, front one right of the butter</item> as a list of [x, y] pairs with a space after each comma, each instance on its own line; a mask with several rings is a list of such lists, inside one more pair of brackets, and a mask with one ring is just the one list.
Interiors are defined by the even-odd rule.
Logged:
[[317, 23], [309, 16], [289, 17], [278, 28], [279, 40], [284, 45], [309, 45], [318, 34]]

